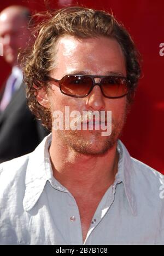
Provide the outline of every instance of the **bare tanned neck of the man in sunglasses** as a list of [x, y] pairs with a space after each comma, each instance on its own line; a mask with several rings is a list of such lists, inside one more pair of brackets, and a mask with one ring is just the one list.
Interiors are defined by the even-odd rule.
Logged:
[[72, 195], [85, 191], [105, 191], [113, 184], [118, 169], [119, 153], [116, 144], [103, 155], [87, 156], [63, 145], [52, 134], [50, 160], [54, 177]]

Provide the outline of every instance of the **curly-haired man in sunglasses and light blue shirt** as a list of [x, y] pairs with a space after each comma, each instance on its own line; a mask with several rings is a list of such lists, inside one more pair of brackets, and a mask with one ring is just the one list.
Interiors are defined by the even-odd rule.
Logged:
[[[1, 244], [164, 244], [163, 176], [118, 140], [140, 76], [125, 28], [105, 12], [58, 10], [40, 25], [24, 76], [28, 105], [52, 134], [0, 165]], [[87, 129], [71, 126], [73, 111], [89, 112], [75, 118]]]

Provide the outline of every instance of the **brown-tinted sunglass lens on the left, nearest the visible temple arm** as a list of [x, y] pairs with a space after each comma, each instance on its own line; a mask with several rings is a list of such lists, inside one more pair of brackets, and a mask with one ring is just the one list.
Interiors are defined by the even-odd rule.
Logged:
[[67, 95], [85, 96], [92, 86], [92, 79], [86, 76], [66, 76], [60, 86], [62, 92]]

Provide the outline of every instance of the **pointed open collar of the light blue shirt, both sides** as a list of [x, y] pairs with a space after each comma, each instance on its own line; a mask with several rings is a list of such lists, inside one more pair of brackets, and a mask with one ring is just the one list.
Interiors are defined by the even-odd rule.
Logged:
[[[51, 134], [46, 136], [36, 150], [30, 153], [25, 180], [26, 190], [23, 201], [25, 211], [30, 211], [34, 207], [48, 180], [55, 189], [68, 192], [53, 176], [48, 150], [50, 144]], [[133, 165], [126, 147], [120, 140], [118, 141], [118, 151], [120, 155], [118, 173], [115, 177], [113, 190], [115, 191], [119, 183], [122, 182], [124, 184], [126, 197], [130, 204], [132, 214], [136, 215], [136, 199], [133, 192]]]

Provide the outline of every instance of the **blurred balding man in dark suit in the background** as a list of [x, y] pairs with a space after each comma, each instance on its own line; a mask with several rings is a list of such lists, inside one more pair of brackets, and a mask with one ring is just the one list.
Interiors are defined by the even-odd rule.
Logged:
[[29, 153], [48, 132], [35, 120], [26, 104], [25, 84], [17, 63], [30, 38], [30, 10], [12, 5], [0, 13], [0, 42], [12, 71], [0, 95], [0, 162]]

